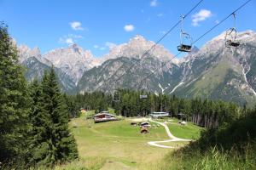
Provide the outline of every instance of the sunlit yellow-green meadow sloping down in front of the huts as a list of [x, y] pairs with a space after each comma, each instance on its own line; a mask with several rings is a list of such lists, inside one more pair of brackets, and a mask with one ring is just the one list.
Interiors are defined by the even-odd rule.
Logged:
[[[78, 144], [80, 160], [57, 169], [157, 169], [152, 164], [157, 164], [167, 153], [174, 150], [147, 144], [148, 141], [168, 139], [162, 126], [152, 127], [149, 133], [141, 134], [140, 127], [131, 126], [130, 119], [95, 124], [84, 117], [82, 115], [70, 122]], [[200, 127], [196, 131], [196, 127], [190, 124], [187, 128], [173, 128], [173, 133], [179, 134], [177, 137], [190, 137], [191, 134], [199, 132]], [[188, 143], [165, 144], [181, 147]]]

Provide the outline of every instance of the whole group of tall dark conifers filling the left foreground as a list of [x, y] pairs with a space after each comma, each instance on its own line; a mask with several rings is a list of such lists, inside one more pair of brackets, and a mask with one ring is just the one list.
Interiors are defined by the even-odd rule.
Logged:
[[54, 69], [41, 82], [27, 83], [23, 73], [8, 27], [0, 23], [0, 168], [53, 167], [77, 159], [68, 101]]

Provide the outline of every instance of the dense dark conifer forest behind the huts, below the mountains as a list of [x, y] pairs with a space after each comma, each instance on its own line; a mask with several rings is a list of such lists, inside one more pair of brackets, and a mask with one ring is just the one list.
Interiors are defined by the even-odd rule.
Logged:
[[[116, 114], [121, 116], [148, 116], [153, 111], [164, 111], [201, 127], [218, 127], [233, 122], [247, 111], [246, 108], [222, 100], [182, 99], [175, 95], [129, 89], [119, 89], [119, 94], [119, 101], [113, 101], [112, 94], [103, 92], [77, 94], [69, 98], [72, 98], [77, 110], [81, 107], [90, 108], [97, 113], [113, 108]], [[140, 99], [142, 94], [146, 94], [147, 98]]]

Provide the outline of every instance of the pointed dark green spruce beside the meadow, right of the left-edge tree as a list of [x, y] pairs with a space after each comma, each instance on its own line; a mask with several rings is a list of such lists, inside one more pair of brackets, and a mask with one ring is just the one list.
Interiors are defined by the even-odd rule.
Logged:
[[34, 127], [36, 135], [31, 161], [47, 166], [72, 161], [78, 158], [77, 145], [68, 130], [67, 105], [53, 68], [49, 74], [45, 72], [41, 86], [38, 113], [34, 115], [37, 127]]

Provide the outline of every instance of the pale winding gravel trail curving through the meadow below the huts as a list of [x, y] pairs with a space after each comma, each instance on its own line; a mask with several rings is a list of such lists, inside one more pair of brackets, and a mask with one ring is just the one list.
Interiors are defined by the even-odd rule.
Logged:
[[166, 142], [179, 142], [179, 141], [192, 141], [192, 139], [180, 139], [180, 138], [177, 138], [175, 137], [171, 132], [170, 132], [170, 129], [169, 127], [163, 123], [163, 122], [156, 122], [156, 121], [153, 121], [152, 119], [148, 119], [148, 121], [150, 122], [155, 122], [155, 123], [158, 123], [160, 124], [161, 126], [165, 127], [166, 129], [166, 133], [168, 135], [168, 137], [170, 139], [168, 140], [162, 140], [162, 141], [149, 141], [148, 144], [150, 145], [153, 145], [153, 146], [157, 146], [157, 147], [160, 147], [160, 148], [175, 148], [174, 146], [166, 146], [166, 145], [163, 145], [161, 143], [166, 143]]

